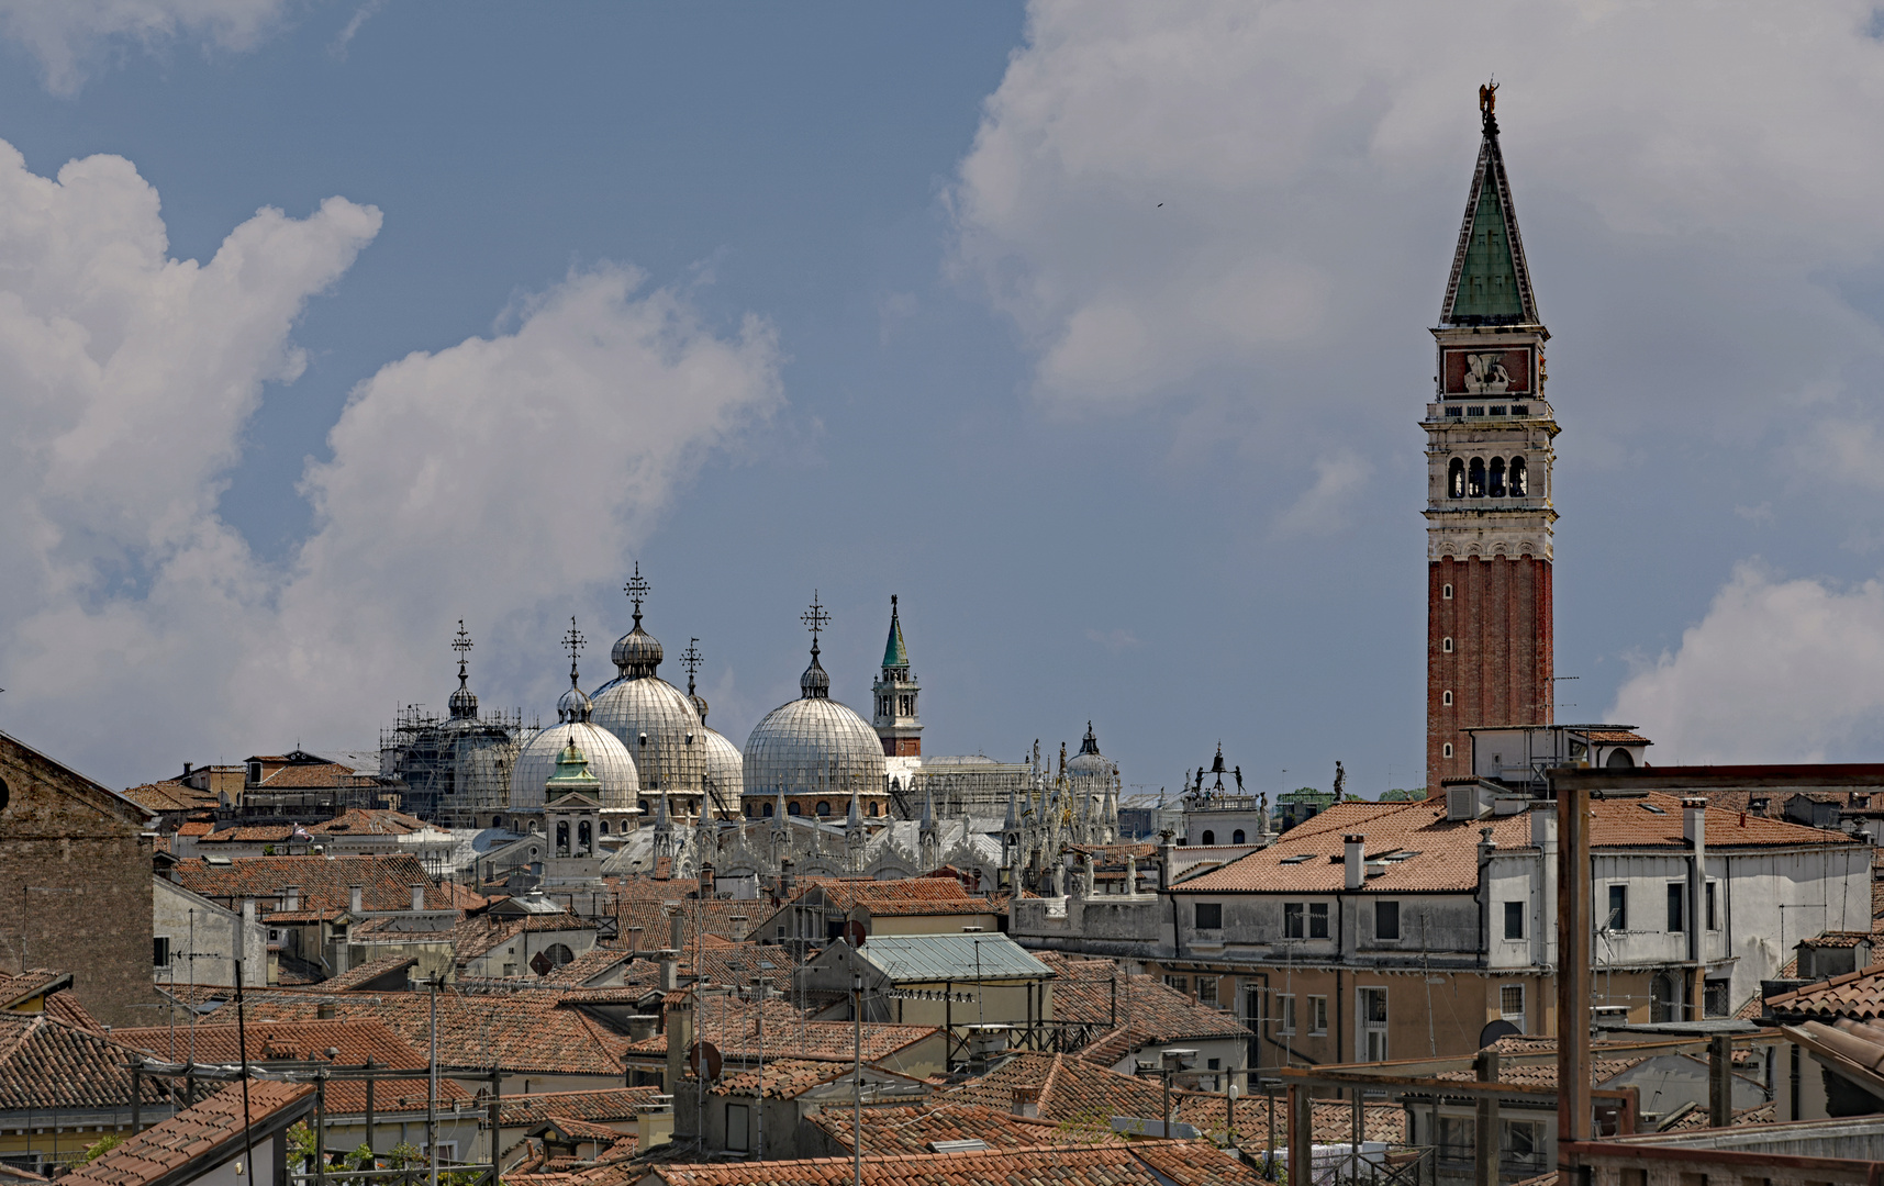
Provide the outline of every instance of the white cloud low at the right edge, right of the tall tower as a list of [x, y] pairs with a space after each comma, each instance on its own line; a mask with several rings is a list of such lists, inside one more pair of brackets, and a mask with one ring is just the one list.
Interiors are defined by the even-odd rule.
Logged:
[[1835, 587], [1741, 565], [1681, 646], [1643, 665], [1609, 719], [1658, 762], [1818, 762], [1884, 742], [1884, 582]]

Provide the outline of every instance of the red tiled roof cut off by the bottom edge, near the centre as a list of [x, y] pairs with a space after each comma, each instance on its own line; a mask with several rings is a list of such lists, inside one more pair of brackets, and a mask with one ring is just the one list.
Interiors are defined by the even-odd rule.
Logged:
[[[846, 1186], [852, 1158], [650, 1165], [667, 1186]], [[867, 1156], [870, 1186], [1255, 1186], [1262, 1178], [1204, 1141], [1042, 1145], [959, 1154]]]

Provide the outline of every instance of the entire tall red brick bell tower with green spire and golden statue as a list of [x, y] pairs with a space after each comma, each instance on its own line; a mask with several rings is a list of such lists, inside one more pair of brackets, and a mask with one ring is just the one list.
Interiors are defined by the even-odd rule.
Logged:
[[1556, 414], [1511, 183], [1498, 85], [1445, 284], [1426, 431], [1426, 793], [1471, 774], [1477, 725], [1549, 725], [1551, 463]]

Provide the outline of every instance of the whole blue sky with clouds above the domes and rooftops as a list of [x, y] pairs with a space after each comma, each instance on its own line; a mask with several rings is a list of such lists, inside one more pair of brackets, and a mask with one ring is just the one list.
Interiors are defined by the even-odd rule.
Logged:
[[1257, 789], [1419, 785], [1415, 422], [1496, 70], [1560, 719], [1875, 757], [1865, 9], [1364, 24], [0, 4], [0, 727], [111, 783], [367, 747], [458, 617], [486, 706], [548, 713], [639, 559], [735, 742], [812, 589], [867, 706], [899, 593], [931, 753], [1091, 719], [1147, 789], [1219, 740]]

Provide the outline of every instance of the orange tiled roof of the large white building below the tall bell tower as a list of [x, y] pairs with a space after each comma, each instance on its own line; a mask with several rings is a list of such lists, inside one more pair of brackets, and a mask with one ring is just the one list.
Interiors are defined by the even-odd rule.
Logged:
[[[1481, 830], [1492, 828], [1492, 843], [1502, 849], [1530, 847], [1530, 819], [1500, 815], [1449, 821], [1445, 804], [1415, 800], [1405, 804], [1345, 802], [1281, 834], [1268, 849], [1249, 853], [1230, 864], [1178, 881], [1179, 892], [1338, 892], [1345, 885], [1343, 836], [1368, 838], [1366, 858], [1383, 864], [1368, 877], [1364, 890], [1470, 890], [1479, 883]], [[1707, 809], [1711, 849], [1771, 845], [1850, 845], [1843, 832], [1807, 828], [1777, 819], [1741, 817], [1718, 808]], [[1686, 849], [1681, 798], [1648, 793], [1647, 798], [1607, 798], [1592, 804], [1592, 849]], [[1385, 860], [1411, 853], [1402, 860]], [[1306, 860], [1298, 860], [1306, 857]]]

